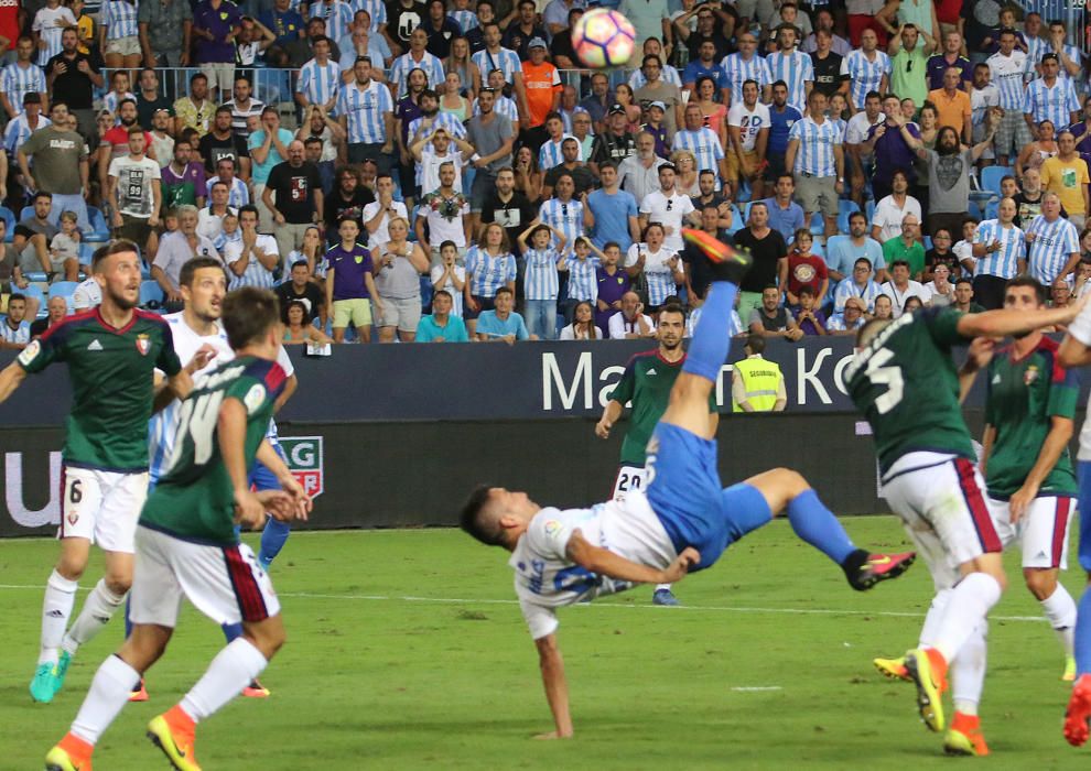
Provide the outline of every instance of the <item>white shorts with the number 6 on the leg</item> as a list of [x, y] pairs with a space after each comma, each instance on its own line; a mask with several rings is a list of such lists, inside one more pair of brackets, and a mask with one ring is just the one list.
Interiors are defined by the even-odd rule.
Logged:
[[58, 539], [87, 539], [107, 552], [132, 554], [133, 533], [148, 498], [148, 471], [61, 469]]

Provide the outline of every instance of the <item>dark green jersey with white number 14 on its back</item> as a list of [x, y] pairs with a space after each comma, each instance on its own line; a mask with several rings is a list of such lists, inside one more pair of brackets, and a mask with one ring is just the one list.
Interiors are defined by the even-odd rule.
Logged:
[[226, 400], [246, 408], [246, 466], [266, 437], [273, 403], [284, 387], [276, 361], [246, 356], [209, 372], [182, 402], [166, 474], [144, 503], [140, 524], [183, 541], [234, 545], [235, 493], [219, 453], [217, 421]]

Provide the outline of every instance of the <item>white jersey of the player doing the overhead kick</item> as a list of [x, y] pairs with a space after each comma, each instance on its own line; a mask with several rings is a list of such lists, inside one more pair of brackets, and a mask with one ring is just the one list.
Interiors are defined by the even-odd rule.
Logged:
[[557, 630], [557, 608], [633, 586], [595, 575], [569, 560], [565, 549], [575, 530], [588, 543], [640, 565], [662, 569], [678, 557], [644, 492], [629, 492], [624, 501], [590, 509], [542, 509], [530, 520], [508, 561], [515, 571], [516, 596], [534, 640]]

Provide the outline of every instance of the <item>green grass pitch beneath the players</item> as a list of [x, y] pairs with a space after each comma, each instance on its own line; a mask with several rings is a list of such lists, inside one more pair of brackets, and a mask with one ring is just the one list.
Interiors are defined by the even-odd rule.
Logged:
[[[861, 545], [908, 547], [894, 518], [846, 526]], [[2, 769], [42, 768], [120, 642], [118, 618], [79, 652], [54, 702], [32, 704], [42, 585], [55, 555], [51, 541], [0, 542]], [[871, 665], [916, 643], [931, 597], [921, 563], [857, 594], [778, 521], [682, 582], [684, 608], [653, 607], [640, 587], [562, 611], [576, 737], [543, 742], [530, 737], [551, 719], [505, 562], [456, 531], [293, 535], [272, 568], [289, 637], [262, 676], [272, 697], [239, 698], [202, 724], [204, 768], [1088, 767], [1088, 749], [1061, 738], [1062, 658], [1016, 553], [990, 631], [982, 721], [993, 754], [984, 760], [944, 758], [942, 738], [916, 716], [912, 686]], [[100, 562], [87, 575], [85, 588]], [[1081, 572], [1063, 579], [1078, 597]], [[143, 727], [222, 644], [187, 607], [150, 673], [152, 701], [125, 709], [99, 742], [96, 769], [166, 768]]]

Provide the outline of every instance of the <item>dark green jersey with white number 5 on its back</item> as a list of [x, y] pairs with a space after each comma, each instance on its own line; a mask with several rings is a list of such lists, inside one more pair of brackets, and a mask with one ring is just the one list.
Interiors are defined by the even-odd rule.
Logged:
[[958, 330], [961, 317], [953, 308], [905, 314], [845, 369], [849, 395], [872, 426], [884, 474], [912, 452], [975, 457], [951, 360], [951, 347], [969, 343]]

